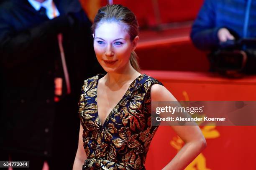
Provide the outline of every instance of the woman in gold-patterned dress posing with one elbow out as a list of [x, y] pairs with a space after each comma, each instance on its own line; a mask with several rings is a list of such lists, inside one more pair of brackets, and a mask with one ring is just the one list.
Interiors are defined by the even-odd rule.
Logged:
[[[151, 101], [176, 99], [161, 82], [139, 72], [134, 52], [138, 23], [128, 8], [100, 8], [92, 31], [97, 60], [107, 74], [84, 81], [73, 170], [145, 169], [146, 153], [157, 130], [151, 126]], [[198, 126], [173, 129], [186, 144], [166, 170], [185, 168], [206, 146]]]

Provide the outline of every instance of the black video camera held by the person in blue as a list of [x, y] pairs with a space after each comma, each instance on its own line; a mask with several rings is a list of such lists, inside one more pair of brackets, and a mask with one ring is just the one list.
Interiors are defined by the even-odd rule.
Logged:
[[221, 42], [208, 55], [212, 70], [229, 77], [256, 73], [256, 38]]

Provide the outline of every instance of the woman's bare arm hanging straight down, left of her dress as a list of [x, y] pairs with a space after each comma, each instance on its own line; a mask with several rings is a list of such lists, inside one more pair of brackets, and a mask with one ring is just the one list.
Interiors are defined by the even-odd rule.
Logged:
[[85, 154], [84, 146], [83, 146], [83, 127], [80, 124], [78, 148], [77, 148], [76, 158], [74, 160], [73, 170], [82, 170], [82, 166], [84, 165], [84, 160], [86, 159], [87, 159], [87, 156]]

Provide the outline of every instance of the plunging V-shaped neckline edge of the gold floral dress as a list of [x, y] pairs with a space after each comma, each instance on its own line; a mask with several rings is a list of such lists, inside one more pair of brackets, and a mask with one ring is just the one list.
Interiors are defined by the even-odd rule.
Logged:
[[101, 78], [100, 76], [103, 77], [104, 75], [102, 75], [102, 74], [98, 74], [98, 75], [97, 75], [97, 80], [96, 80], [96, 99], [97, 99], [97, 100], [95, 100], [95, 102], [96, 102], [97, 118], [99, 119], [99, 124], [100, 124], [100, 126], [103, 127], [103, 126], [106, 124], [106, 122], [108, 122], [109, 117], [111, 116], [113, 110], [115, 110], [115, 108], [118, 107], [118, 105], [119, 105], [120, 102], [123, 100], [123, 98], [126, 97], [126, 93], [127, 93], [128, 90], [130, 90], [131, 85], [133, 85], [133, 83], [136, 82], [136, 80], [137, 80], [138, 78], [140, 78], [142, 75], [144, 75], [144, 74], [139, 75], [136, 79], [134, 79], [134, 80], [131, 82], [131, 84], [129, 85], [128, 89], [125, 91], [125, 94], [123, 95], [123, 97], [119, 100], [119, 102], [115, 105], [115, 107], [113, 107], [113, 109], [108, 113], [108, 115], [107, 115], [105, 121], [103, 122], [103, 124], [101, 124], [101, 122], [100, 122], [100, 116], [99, 116], [99, 112], [98, 112], [98, 94], [97, 94], [97, 93], [98, 93], [98, 83], [99, 83], [99, 79]]

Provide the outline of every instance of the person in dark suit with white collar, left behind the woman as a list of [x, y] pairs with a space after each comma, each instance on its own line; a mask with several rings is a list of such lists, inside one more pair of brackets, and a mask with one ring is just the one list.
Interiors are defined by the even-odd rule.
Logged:
[[30, 161], [33, 170], [46, 160], [50, 169], [72, 168], [79, 89], [102, 72], [90, 27], [78, 0], [1, 3], [1, 160]]

